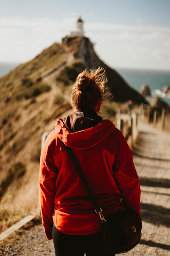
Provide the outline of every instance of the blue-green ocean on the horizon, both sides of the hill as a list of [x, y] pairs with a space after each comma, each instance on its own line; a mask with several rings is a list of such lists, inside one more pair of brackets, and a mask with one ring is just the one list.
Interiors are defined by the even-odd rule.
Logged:
[[[0, 63], [0, 77], [17, 67], [16, 63]], [[170, 86], [170, 71], [164, 70], [137, 70], [126, 68], [115, 68], [117, 72], [132, 88], [140, 91], [142, 84], [148, 84], [152, 93], [159, 93], [165, 85]], [[170, 105], [170, 98], [162, 98]]]

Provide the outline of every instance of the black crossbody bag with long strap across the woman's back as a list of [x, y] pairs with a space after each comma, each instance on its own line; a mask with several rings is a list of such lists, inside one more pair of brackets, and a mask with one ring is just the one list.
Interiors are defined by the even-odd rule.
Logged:
[[[142, 221], [139, 214], [125, 205], [121, 198], [120, 202], [122, 204], [122, 209], [105, 218], [102, 215], [102, 209], [99, 207], [99, 204], [91, 191], [91, 188], [72, 149], [66, 146], [64, 143], [63, 145], [65, 146], [65, 149], [68, 152], [68, 155], [80, 179], [82, 180], [82, 184], [84, 185], [85, 190], [87, 191], [89, 198], [94, 205], [96, 214], [99, 214], [102, 221], [103, 252], [117, 254], [126, 253], [133, 249], [133, 247], [139, 243], [142, 236]], [[115, 177], [113, 178], [118, 186]]]

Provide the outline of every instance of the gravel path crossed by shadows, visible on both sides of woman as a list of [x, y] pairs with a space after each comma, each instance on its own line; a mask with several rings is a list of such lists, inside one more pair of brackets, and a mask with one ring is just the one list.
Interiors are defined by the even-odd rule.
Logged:
[[[141, 183], [142, 239], [126, 256], [170, 256], [170, 134], [139, 123], [133, 160]], [[41, 225], [26, 230], [1, 255], [54, 256]]]

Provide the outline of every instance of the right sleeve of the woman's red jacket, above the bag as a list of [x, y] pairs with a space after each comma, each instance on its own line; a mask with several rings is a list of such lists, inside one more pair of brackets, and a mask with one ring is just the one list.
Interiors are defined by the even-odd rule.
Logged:
[[140, 213], [139, 178], [133, 164], [132, 153], [122, 133], [120, 133], [117, 143], [113, 175], [117, 180], [125, 204]]

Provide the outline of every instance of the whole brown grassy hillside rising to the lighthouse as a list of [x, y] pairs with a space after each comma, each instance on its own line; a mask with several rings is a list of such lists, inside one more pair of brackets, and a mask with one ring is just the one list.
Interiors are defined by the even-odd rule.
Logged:
[[84, 37], [63, 38], [0, 78], [1, 221], [10, 225], [36, 211], [41, 136], [54, 129], [57, 117], [71, 112], [70, 89], [79, 72], [99, 66], [106, 68], [115, 101], [145, 102]]

